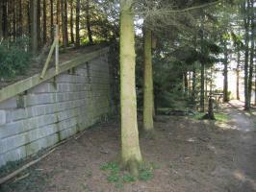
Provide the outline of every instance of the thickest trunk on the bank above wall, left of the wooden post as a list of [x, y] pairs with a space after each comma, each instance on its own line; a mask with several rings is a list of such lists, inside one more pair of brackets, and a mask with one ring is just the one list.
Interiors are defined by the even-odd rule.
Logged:
[[34, 56], [38, 53], [38, 0], [32, 1], [32, 53]]

